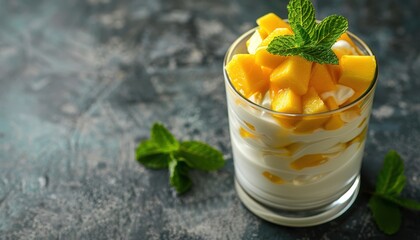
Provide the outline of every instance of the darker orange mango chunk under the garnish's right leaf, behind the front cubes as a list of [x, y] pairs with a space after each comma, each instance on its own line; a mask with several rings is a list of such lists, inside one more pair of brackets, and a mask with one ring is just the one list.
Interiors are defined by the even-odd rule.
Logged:
[[318, 94], [335, 89], [335, 83], [327, 65], [315, 63], [309, 80], [309, 87], [314, 87]]

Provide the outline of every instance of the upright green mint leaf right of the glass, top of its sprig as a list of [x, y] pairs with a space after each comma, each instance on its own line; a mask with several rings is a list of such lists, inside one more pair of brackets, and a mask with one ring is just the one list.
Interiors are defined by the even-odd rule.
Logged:
[[376, 182], [376, 193], [399, 195], [406, 182], [404, 162], [396, 151], [389, 151]]

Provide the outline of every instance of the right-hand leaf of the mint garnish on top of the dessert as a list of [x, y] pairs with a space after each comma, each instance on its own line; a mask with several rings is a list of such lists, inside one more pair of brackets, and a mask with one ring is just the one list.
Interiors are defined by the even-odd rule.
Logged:
[[337, 39], [347, 31], [347, 28], [346, 18], [338, 15], [328, 16], [315, 27], [313, 37], [315, 44], [324, 48], [331, 48]]

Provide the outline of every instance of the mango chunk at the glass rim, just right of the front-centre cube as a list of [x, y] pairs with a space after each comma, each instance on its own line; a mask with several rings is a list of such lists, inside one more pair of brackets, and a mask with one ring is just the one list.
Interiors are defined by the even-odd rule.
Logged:
[[[314, 88], [302, 96], [302, 111], [304, 114], [316, 114], [328, 111], [324, 101], [319, 97]], [[296, 124], [295, 132], [310, 133], [320, 128], [329, 116], [306, 116]]]

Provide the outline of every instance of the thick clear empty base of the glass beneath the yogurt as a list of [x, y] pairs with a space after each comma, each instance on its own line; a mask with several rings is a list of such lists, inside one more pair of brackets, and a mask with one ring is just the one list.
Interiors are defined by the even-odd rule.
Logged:
[[267, 207], [252, 198], [235, 179], [236, 192], [242, 203], [255, 215], [269, 222], [290, 226], [308, 227], [331, 221], [343, 214], [357, 198], [360, 189], [360, 176], [354, 180], [349, 190], [331, 204], [316, 209], [289, 211]]

